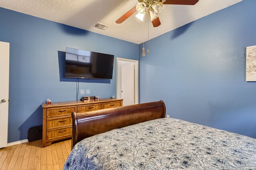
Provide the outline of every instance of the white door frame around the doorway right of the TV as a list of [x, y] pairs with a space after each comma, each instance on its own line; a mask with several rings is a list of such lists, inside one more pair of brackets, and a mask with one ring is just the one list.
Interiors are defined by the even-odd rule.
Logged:
[[[134, 103], [139, 103], [139, 61], [131, 59], [116, 58], [116, 96], [119, 96], [118, 89], [118, 61], [128, 61], [134, 63]], [[120, 80], [121, 81], [121, 80]]]

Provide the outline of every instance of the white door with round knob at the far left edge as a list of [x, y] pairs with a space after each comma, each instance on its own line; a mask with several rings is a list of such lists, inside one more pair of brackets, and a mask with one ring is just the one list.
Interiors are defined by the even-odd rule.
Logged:
[[0, 148], [7, 146], [10, 43], [0, 41]]

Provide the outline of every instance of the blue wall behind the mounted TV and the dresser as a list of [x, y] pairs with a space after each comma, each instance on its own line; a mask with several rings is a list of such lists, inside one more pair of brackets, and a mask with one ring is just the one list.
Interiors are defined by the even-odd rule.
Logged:
[[42, 125], [47, 98], [76, 100], [77, 79], [63, 76], [66, 47], [115, 55], [112, 80], [80, 80], [80, 89], [101, 98], [116, 95], [116, 57], [138, 60], [138, 44], [4, 8], [0, 21], [0, 41], [10, 42], [8, 143], [27, 139], [28, 128]]

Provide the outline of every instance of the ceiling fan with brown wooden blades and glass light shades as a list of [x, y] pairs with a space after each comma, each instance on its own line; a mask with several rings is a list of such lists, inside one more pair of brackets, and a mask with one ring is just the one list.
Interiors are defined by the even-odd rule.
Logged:
[[136, 11], [140, 14], [145, 14], [146, 8], [148, 8], [148, 14], [150, 16], [150, 20], [154, 27], [158, 27], [161, 25], [160, 20], [158, 18], [158, 13], [161, 12], [163, 4], [172, 4], [172, 5], [194, 5], [199, 0], [138, 0], [138, 4], [134, 6], [130, 11], [126, 12], [123, 16], [121, 16], [116, 23], [122, 23], [127, 18], [129, 18]]

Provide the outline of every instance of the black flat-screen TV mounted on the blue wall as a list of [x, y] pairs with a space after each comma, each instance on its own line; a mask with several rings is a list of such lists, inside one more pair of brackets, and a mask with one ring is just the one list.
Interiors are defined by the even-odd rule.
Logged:
[[112, 79], [114, 55], [66, 47], [65, 77]]

